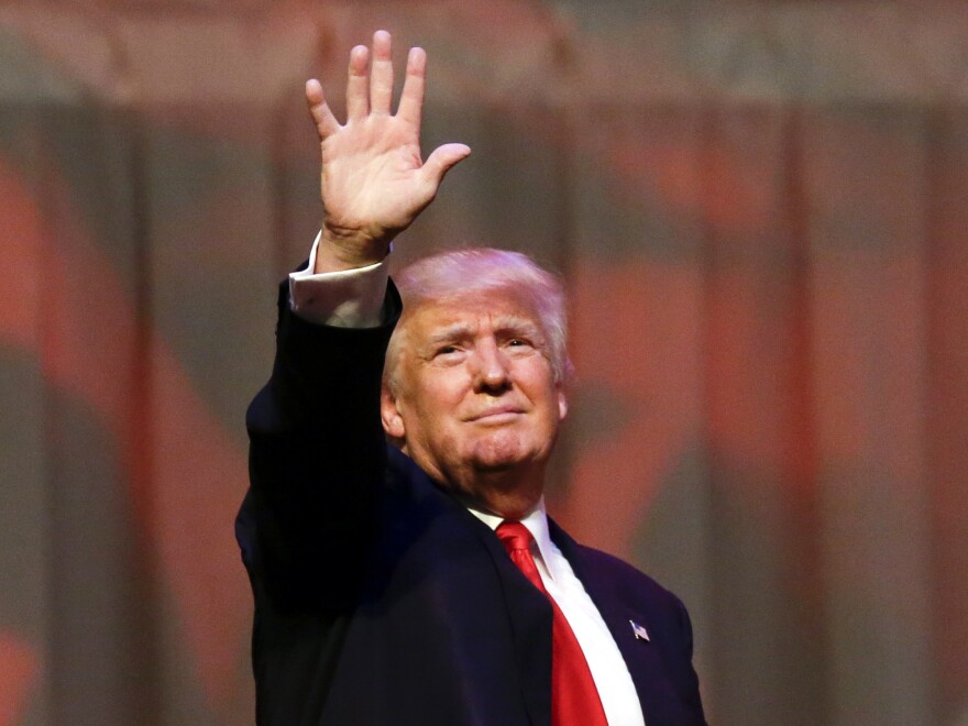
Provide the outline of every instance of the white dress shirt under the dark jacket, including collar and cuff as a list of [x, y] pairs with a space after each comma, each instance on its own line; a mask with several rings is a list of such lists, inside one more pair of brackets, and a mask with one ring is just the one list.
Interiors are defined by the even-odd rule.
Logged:
[[[289, 305], [300, 318], [341, 328], [373, 328], [381, 324], [388, 279], [386, 260], [344, 272], [315, 274], [319, 235], [312, 243], [309, 265], [289, 275]], [[492, 529], [504, 521], [496, 515], [468, 507]], [[569, 561], [551, 541], [544, 499], [521, 519], [535, 538], [531, 556], [548, 594], [561, 608], [578, 638], [610, 726], [645, 726], [635, 683], [602, 619], [602, 614], [575, 576]], [[631, 637], [631, 635], [629, 635]]]

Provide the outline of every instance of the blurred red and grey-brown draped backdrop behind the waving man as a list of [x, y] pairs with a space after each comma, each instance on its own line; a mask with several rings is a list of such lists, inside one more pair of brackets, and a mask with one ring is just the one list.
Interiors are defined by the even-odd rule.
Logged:
[[0, 3], [0, 724], [252, 723], [302, 82], [378, 28], [474, 150], [394, 265], [564, 274], [550, 508], [683, 597], [711, 721], [968, 724], [968, 7], [684, 0]]

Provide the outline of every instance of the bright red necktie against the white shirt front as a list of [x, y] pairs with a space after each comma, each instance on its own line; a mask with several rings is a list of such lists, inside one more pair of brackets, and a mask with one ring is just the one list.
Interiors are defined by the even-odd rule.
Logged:
[[544, 590], [538, 566], [531, 557], [534, 538], [519, 521], [505, 521], [497, 537], [525, 576], [551, 602], [551, 723], [554, 726], [608, 726], [602, 698], [585, 654], [554, 598]]

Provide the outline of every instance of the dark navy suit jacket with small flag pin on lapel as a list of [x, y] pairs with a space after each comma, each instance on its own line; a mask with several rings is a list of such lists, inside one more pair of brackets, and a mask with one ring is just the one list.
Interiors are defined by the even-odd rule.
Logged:
[[[486, 525], [386, 447], [380, 385], [399, 310], [391, 286], [389, 324], [312, 326], [280, 289], [237, 520], [255, 597], [258, 723], [547, 726], [547, 598]], [[551, 531], [618, 644], [648, 726], [704, 723], [680, 601]]]

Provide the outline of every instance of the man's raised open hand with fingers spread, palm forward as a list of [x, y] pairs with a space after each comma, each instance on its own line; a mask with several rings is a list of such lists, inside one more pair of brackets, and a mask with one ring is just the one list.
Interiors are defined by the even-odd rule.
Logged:
[[[373, 61], [364, 45], [350, 53], [346, 122], [340, 124], [319, 81], [306, 82], [306, 100], [322, 148], [321, 193], [326, 215], [316, 272], [378, 262], [391, 240], [437, 196], [443, 175], [471, 153], [444, 144], [422, 161], [420, 114], [427, 54], [410, 48], [395, 114], [391, 35], [373, 34]], [[371, 68], [367, 72], [367, 65]]]

